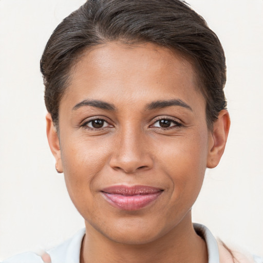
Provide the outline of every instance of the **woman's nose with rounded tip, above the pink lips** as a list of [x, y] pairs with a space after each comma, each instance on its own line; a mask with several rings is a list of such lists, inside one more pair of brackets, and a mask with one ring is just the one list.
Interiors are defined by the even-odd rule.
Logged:
[[151, 169], [154, 162], [145, 137], [139, 129], [124, 129], [116, 136], [110, 166], [127, 174]]

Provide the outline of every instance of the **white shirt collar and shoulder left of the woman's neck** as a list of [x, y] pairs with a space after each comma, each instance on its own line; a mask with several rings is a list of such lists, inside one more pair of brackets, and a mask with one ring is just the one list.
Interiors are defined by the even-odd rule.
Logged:
[[[52, 263], [77, 263], [80, 259], [80, 250], [85, 229], [80, 230], [72, 238], [61, 243], [58, 247], [50, 249], [47, 253]], [[43, 263], [41, 256], [32, 252], [18, 254], [2, 263]]]

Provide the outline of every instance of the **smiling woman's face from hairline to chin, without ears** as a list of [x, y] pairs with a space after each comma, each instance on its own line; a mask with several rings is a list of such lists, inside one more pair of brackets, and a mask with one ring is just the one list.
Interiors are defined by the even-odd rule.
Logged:
[[91, 233], [146, 243], [191, 222], [213, 136], [189, 62], [149, 43], [97, 46], [59, 116], [60, 166]]

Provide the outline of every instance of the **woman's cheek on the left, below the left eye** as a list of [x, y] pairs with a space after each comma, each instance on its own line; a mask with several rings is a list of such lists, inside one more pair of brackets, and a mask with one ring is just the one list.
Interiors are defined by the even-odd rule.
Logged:
[[95, 179], [109, 159], [110, 143], [84, 136], [68, 138], [70, 142], [61, 140], [61, 158], [67, 189], [74, 202], [75, 196], [84, 198], [92, 194]]

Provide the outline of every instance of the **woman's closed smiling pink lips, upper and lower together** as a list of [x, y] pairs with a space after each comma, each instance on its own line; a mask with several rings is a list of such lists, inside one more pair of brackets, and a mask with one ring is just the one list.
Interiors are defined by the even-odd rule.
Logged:
[[155, 201], [162, 189], [146, 185], [114, 185], [101, 191], [104, 198], [115, 208], [135, 211]]

